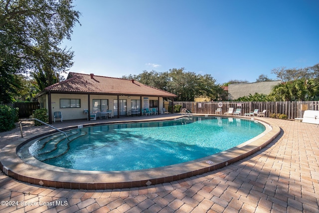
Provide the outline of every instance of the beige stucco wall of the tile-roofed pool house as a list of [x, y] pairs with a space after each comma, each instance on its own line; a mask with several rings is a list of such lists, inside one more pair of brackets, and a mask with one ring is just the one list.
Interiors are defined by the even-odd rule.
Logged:
[[[112, 116], [114, 116], [114, 100], [117, 100], [116, 95], [90, 95], [90, 109], [92, 113], [92, 100], [93, 99], [108, 99], [109, 110], [112, 110]], [[119, 99], [127, 100], [127, 111], [131, 110], [131, 100], [140, 100], [140, 96], [119, 96]], [[60, 108], [60, 99], [80, 99], [80, 108]], [[158, 97], [148, 97], [148, 100], [158, 100]], [[48, 109], [48, 95], [42, 95], [39, 97], [40, 104]], [[51, 94], [51, 116], [53, 120], [53, 113], [60, 111], [63, 116], [63, 120], [74, 120], [74, 119], [86, 119], [87, 114], [84, 114], [84, 110], [88, 109], [88, 95], [83, 94]], [[144, 106], [144, 96], [142, 97], [142, 109]], [[159, 111], [163, 107], [163, 98], [160, 97]]]

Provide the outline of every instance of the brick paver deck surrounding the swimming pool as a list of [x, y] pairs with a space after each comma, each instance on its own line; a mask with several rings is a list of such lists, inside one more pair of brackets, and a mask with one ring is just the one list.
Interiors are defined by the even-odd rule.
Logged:
[[[141, 118], [154, 119], [133, 117]], [[319, 213], [319, 128], [295, 121], [261, 120], [281, 128], [280, 135], [264, 149], [221, 169], [175, 182], [127, 189], [71, 190], [26, 184], [1, 172], [0, 213]], [[105, 120], [57, 121], [53, 126], [65, 128], [84, 122]], [[25, 137], [48, 130], [23, 124]], [[0, 133], [0, 150], [16, 140], [21, 140], [18, 126]]]

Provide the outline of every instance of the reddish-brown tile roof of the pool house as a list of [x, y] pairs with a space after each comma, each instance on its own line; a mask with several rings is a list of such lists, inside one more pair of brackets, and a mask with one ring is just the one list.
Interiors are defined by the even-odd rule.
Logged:
[[135, 80], [76, 72], [70, 72], [67, 80], [52, 84], [51, 86], [44, 88], [44, 91], [160, 97], [176, 96], [172, 93], [142, 84]]

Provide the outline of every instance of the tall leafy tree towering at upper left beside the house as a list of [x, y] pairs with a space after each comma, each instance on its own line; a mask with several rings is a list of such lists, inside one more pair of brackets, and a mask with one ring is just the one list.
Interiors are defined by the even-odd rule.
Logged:
[[[60, 48], [60, 44], [63, 39], [70, 39], [79, 15], [73, 9], [72, 0], [2, 0], [1, 74], [9, 76], [39, 70], [56, 73], [72, 66], [73, 52]], [[8, 102], [10, 97], [4, 99], [1, 93], [0, 101]]]

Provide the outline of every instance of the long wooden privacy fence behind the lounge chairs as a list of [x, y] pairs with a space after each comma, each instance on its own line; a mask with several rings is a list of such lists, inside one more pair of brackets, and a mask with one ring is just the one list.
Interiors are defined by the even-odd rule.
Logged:
[[[222, 104], [220, 104], [222, 103]], [[276, 101], [276, 102], [188, 102], [188, 101], [174, 101], [174, 105], [181, 105], [181, 109], [188, 109], [192, 113], [201, 114], [215, 114], [218, 105], [222, 105], [222, 114], [228, 111], [229, 107], [241, 108], [241, 114], [249, 113], [254, 109], [259, 109], [259, 112], [267, 110], [266, 116], [269, 117], [270, 113], [285, 114], [288, 119], [302, 118], [305, 110], [319, 110], [319, 101]]]

